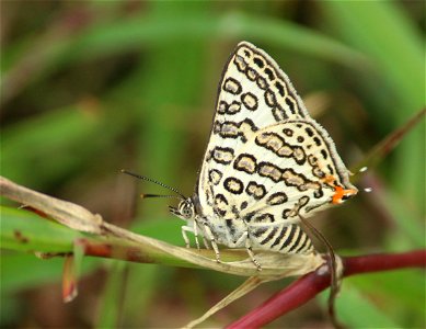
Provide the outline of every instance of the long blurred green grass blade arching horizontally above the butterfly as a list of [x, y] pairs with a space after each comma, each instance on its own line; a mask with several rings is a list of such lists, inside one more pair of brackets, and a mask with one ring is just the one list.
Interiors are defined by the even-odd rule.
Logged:
[[[66, 34], [66, 36], [43, 35], [38, 36], [41, 41], [20, 41], [20, 45], [10, 45], [8, 48], [11, 50], [5, 49], [3, 54], [8, 66], [2, 69], [1, 101], [7, 102], [30, 83], [35, 83], [46, 75], [53, 75], [55, 70], [64, 69], [78, 61], [138, 49], [141, 45], [152, 47], [183, 39], [199, 42], [211, 38], [253, 38], [268, 41], [284, 49], [293, 49], [348, 67], [362, 68], [368, 65], [364, 55], [344, 44], [313, 30], [283, 22], [280, 19], [250, 15], [243, 12], [214, 15], [203, 10], [194, 14], [186, 10], [187, 5], [188, 3], [179, 5], [183, 10], [180, 15], [170, 11], [150, 15], [142, 12], [131, 18], [124, 16], [123, 20], [93, 22], [81, 27], [79, 33]], [[47, 41], [45, 42], [44, 38]], [[21, 56], [16, 56], [16, 48], [21, 50]], [[34, 57], [34, 54], [37, 56]], [[22, 79], [22, 76], [26, 76], [28, 66], [32, 73], [27, 79]]]

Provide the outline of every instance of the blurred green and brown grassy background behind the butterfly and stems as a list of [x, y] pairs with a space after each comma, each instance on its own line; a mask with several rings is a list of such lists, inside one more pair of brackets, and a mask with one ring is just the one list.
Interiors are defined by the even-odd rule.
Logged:
[[[276, 59], [354, 167], [425, 105], [424, 37], [423, 1], [2, 1], [1, 174], [182, 246], [173, 201], [140, 201], [164, 191], [119, 170], [193, 192], [238, 42]], [[424, 248], [424, 121], [358, 184], [373, 192], [311, 219], [338, 253]], [[85, 259], [78, 298], [62, 304], [61, 268], [3, 249], [0, 326], [179, 327], [243, 281]], [[205, 326], [229, 324], [289, 282], [257, 288]], [[270, 328], [329, 326], [322, 299]], [[345, 280], [337, 303], [354, 328], [424, 328], [424, 309], [418, 270]]]

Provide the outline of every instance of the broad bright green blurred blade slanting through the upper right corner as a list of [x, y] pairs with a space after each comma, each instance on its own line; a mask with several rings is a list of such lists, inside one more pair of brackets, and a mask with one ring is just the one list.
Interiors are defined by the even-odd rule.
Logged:
[[[393, 84], [408, 114], [425, 105], [422, 37], [398, 2], [325, 1], [321, 5], [341, 35], [368, 55]], [[405, 111], [393, 113], [399, 122]]]

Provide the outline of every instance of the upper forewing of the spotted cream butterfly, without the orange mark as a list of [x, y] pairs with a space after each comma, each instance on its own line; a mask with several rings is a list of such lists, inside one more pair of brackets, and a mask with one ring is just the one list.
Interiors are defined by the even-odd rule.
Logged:
[[[202, 204], [211, 204], [207, 200], [209, 193], [206, 195], [210, 167], [215, 169], [211, 174], [218, 177], [215, 172], [223, 172], [235, 150], [256, 131], [286, 118], [306, 116], [302, 101], [278, 65], [262, 49], [240, 43], [219, 83], [217, 110], [198, 185]], [[219, 161], [209, 166], [212, 159]]]

